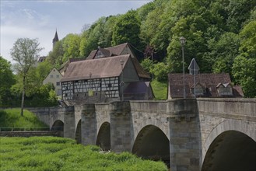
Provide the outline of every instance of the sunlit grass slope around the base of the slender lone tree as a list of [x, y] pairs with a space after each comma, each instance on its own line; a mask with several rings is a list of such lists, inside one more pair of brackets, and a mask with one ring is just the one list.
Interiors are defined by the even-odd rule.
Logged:
[[24, 110], [23, 115], [19, 108], [0, 110], [0, 127], [47, 127], [30, 111]]

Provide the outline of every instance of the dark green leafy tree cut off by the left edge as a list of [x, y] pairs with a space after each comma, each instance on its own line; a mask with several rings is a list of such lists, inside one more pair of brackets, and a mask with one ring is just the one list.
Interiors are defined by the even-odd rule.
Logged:
[[15, 84], [11, 67], [11, 63], [0, 56], [0, 106], [8, 105], [10, 88]]

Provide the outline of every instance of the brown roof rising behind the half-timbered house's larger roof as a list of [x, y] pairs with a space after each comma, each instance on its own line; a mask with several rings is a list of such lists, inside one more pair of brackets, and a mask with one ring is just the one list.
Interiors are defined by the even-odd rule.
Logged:
[[[128, 46], [128, 43], [125, 44], [118, 44], [117, 46], [114, 47], [106, 47], [106, 48], [100, 48], [100, 51], [103, 50], [107, 50], [109, 51], [109, 56], [118, 56], [121, 55], [121, 53], [124, 51], [124, 48]], [[99, 49], [99, 48], [98, 48]], [[91, 51], [91, 53], [88, 55], [88, 57], [86, 59], [93, 59], [95, 58], [96, 52], [98, 50], [93, 50]], [[103, 51], [102, 51], [103, 52]]]

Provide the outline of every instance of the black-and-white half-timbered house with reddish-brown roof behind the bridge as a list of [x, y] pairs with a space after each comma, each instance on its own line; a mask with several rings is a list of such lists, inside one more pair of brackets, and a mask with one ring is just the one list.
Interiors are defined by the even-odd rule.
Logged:
[[[101, 54], [101, 57], [96, 57]], [[73, 61], [61, 79], [62, 98], [69, 103], [104, 103], [120, 100], [132, 82], [150, 79], [131, 54], [112, 55], [98, 48], [93, 58]], [[149, 85], [150, 86], [150, 85]], [[149, 86], [145, 89], [151, 89]], [[153, 98], [153, 92], [149, 98]], [[146, 96], [147, 97], [147, 96]], [[124, 100], [131, 99], [127, 95]]]

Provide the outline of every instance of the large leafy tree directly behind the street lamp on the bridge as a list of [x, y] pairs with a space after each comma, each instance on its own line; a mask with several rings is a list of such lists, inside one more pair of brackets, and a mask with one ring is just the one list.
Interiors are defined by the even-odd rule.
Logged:
[[207, 26], [208, 23], [202, 16], [193, 15], [177, 21], [171, 29], [173, 36], [167, 47], [167, 60], [172, 72], [182, 72], [181, 43], [179, 40], [181, 36], [187, 40], [184, 45], [185, 68], [188, 68], [192, 58], [196, 58], [202, 72], [211, 71], [209, 66], [212, 64], [209, 64], [204, 58], [205, 52], [209, 51], [204, 37]]

